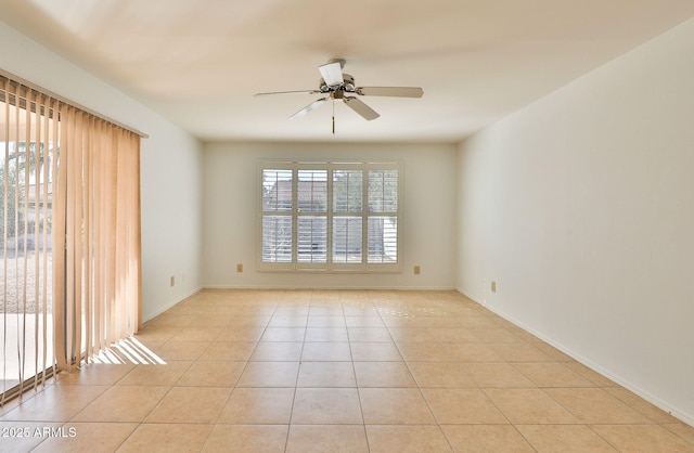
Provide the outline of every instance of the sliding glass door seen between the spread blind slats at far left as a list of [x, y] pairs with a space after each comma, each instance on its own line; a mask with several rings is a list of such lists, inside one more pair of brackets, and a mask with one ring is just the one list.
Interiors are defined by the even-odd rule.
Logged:
[[53, 366], [52, 180], [57, 125], [38, 93], [0, 86], [0, 390]]

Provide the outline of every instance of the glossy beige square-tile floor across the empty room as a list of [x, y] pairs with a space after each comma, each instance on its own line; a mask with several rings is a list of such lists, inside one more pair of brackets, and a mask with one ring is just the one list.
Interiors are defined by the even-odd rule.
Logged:
[[694, 428], [454, 292], [203, 290], [0, 411], [0, 452], [694, 452]]

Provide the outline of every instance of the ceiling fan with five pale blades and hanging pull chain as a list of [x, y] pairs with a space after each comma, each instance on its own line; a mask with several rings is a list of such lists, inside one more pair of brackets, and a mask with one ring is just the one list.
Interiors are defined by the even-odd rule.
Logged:
[[[345, 60], [333, 59], [318, 67], [321, 73], [321, 80], [318, 90], [298, 90], [298, 91], [273, 91], [267, 93], [257, 93], [256, 96], [271, 94], [287, 93], [308, 93], [308, 94], [325, 94], [323, 98], [313, 101], [306, 107], [301, 108], [290, 119], [299, 118], [309, 112], [318, 108], [327, 101], [343, 101], [352, 111], [357, 112], [368, 121], [378, 118], [381, 115], [373, 108], [361, 102], [356, 95], [360, 96], [395, 96], [395, 98], [422, 98], [424, 91], [419, 87], [357, 87], [355, 78], [343, 73]], [[334, 104], [334, 103], [333, 103]], [[335, 115], [333, 113], [333, 133], [335, 133]]]

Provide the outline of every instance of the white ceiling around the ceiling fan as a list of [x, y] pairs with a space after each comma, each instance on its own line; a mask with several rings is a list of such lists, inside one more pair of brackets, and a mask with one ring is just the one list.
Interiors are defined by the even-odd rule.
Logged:
[[[203, 140], [457, 142], [694, 15], [692, 0], [0, 0], [0, 20]], [[360, 98], [287, 117], [347, 60]], [[0, 62], [1, 65], [1, 62]]]

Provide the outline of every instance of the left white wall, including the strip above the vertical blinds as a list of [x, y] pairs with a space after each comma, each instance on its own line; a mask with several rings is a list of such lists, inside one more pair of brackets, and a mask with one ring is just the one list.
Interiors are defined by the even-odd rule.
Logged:
[[[182, 129], [0, 22], [0, 67], [141, 130], [143, 318], [202, 282], [202, 144]], [[170, 287], [169, 276], [176, 275]]]

